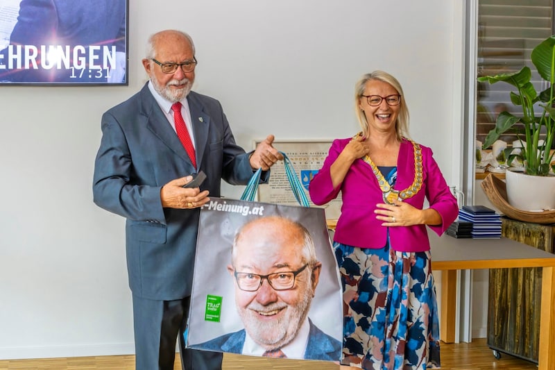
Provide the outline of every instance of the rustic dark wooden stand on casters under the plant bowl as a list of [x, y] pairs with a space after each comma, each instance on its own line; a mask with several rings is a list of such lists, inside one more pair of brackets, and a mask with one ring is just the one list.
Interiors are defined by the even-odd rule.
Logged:
[[[555, 224], [502, 217], [502, 235], [555, 253]], [[537, 363], [542, 269], [490, 269], [489, 274], [488, 346]]]

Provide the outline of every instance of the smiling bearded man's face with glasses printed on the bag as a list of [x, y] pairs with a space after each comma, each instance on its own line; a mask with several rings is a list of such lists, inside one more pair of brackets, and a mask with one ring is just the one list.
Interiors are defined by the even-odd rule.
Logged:
[[250, 337], [266, 349], [291, 342], [307, 317], [321, 269], [319, 262], [309, 264], [305, 233], [281, 217], [251, 221], [237, 235], [228, 269]]

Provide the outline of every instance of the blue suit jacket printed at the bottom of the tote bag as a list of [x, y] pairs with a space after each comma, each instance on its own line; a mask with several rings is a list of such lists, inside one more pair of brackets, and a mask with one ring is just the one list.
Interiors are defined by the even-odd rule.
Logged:
[[[341, 342], [325, 334], [318, 329], [312, 321], [309, 320], [310, 331], [305, 350], [305, 360], [323, 360], [323, 361], [339, 361], [341, 360]], [[228, 333], [209, 340], [203, 344], [194, 344], [191, 348], [202, 349], [206, 351], [243, 353], [243, 345], [245, 344], [245, 330], [239, 330], [234, 333]]]

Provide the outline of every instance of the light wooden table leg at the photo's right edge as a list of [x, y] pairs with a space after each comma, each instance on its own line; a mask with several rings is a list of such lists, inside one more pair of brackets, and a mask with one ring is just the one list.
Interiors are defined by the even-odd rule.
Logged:
[[542, 273], [538, 370], [555, 370], [555, 267], [544, 267]]

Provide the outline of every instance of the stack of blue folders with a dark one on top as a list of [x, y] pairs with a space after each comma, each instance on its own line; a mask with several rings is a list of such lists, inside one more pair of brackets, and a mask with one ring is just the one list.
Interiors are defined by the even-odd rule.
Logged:
[[472, 238], [499, 239], [501, 237], [501, 215], [485, 205], [463, 205], [459, 210], [459, 221], [472, 223]]

